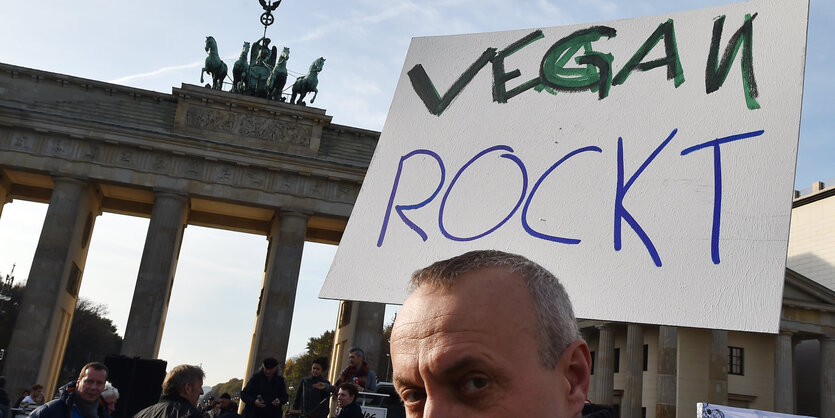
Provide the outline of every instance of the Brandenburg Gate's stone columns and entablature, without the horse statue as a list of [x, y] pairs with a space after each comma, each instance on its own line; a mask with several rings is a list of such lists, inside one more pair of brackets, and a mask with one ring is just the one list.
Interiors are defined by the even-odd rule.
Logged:
[[102, 212], [150, 218], [121, 354], [157, 357], [183, 231], [200, 225], [269, 240], [246, 374], [284, 359], [303, 244], [339, 242], [378, 138], [311, 106], [0, 64], [0, 215], [12, 199], [49, 204], [6, 350], [10, 393], [54, 392]]

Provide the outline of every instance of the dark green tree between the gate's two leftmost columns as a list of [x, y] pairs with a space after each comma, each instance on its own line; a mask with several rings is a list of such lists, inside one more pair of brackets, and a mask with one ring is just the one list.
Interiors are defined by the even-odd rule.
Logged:
[[91, 361], [104, 361], [104, 357], [119, 354], [122, 337], [108, 319], [107, 306], [79, 298], [72, 317], [64, 362], [58, 375], [58, 386], [78, 378], [81, 368]]

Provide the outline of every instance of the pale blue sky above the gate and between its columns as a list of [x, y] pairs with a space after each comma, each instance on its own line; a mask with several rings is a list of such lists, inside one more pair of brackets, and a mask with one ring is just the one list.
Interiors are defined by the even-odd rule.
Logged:
[[[170, 93], [199, 84], [206, 36], [231, 66], [244, 41], [263, 33], [256, 0], [7, 2], [0, 14], [0, 61]], [[288, 69], [306, 72], [327, 59], [316, 107], [333, 122], [380, 130], [414, 36], [525, 29], [665, 14], [726, 0], [317, 1], [283, 0], [267, 35], [290, 48]], [[802, 4], [784, 0], [787, 7]], [[835, 3], [812, 0], [795, 188], [835, 180]], [[2, 76], [0, 74], [0, 76]], [[0, 273], [17, 263], [28, 275], [45, 205], [15, 201], [0, 218]], [[124, 332], [147, 219], [104, 214], [96, 223], [82, 296], [106, 303]], [[262, 236], [186, 229], [160, 356], [171, 365], [203, 364], [206, 382], [240, 377], [246, 364], [261, 269]], [[335, 247], [307, 245], [290, 355], [335, 324], [337, 303], [316, 295]], [[393, 309], [389, 309], [389, 316]]]

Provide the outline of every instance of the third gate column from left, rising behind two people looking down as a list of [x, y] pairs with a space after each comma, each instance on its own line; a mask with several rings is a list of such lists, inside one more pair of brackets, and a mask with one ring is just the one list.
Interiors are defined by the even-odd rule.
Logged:
[[245, 372], [247, 379], [258, 371], [267, 357], [274, 357], [284, 365], [308, 218], [303, 213], [280, 211], [273, 222], [255, 333]]

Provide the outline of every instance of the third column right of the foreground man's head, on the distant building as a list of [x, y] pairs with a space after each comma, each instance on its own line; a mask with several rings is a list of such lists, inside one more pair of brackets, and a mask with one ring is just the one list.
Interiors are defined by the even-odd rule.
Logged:
[[656, 418], [675, 418], [678, 379], [678, 328], [658, 327]]

